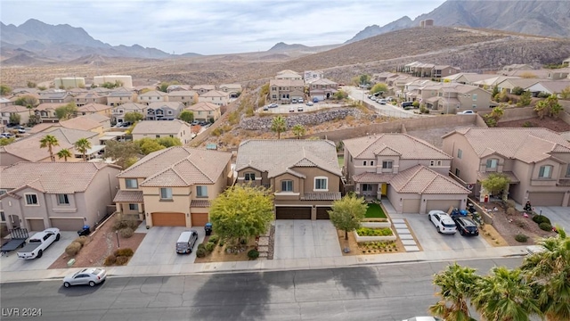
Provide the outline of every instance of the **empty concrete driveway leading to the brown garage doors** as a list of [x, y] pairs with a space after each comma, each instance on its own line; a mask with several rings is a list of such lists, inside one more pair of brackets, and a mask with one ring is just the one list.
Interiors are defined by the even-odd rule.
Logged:
[[337, 230], [330, 220], [275, 221], [273, 259], [341, 257]]

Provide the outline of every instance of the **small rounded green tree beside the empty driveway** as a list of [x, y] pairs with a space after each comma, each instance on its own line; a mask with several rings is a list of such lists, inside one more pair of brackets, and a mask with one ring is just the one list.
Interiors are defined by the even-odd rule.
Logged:
[[332, 203], [332, 210], [329, 210], [330, 222], [337, 229], [345, 231], [345, 240], [348, 240], [348, 232], [360, 227], [360, 222], [368, 205], [364, 198], [359, 198], [354, 193], [346, 194], [345, 197]]

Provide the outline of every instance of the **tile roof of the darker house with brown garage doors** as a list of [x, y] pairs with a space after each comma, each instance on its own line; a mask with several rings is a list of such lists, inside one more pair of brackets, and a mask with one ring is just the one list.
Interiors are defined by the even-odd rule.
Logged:
[[341, 176], [337, 148], [328, 140], [248, 140], [240, 144], [236, 170], [248, 167], [267, 171], [268, 177], [285, 172], [297, 174], [296, 167], [316, 167]]

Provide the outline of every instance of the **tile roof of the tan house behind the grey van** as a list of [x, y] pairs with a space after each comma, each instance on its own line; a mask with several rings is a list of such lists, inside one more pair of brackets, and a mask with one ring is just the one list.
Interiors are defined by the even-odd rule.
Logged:
[[151, 152], [117, 177], [146, 178], [141, 186], [213, 184], [224, 172], [231, 158], [230, 152], [175, 146]]

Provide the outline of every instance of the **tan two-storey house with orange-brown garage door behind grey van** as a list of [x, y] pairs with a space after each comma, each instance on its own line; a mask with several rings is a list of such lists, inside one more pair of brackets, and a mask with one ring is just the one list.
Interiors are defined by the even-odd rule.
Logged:
[[151, 152], [118, 174], [117, 210], [147, 226], [205, 226], [210, 202], [232, 181], [231, 159], [182, 146]]

